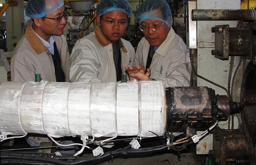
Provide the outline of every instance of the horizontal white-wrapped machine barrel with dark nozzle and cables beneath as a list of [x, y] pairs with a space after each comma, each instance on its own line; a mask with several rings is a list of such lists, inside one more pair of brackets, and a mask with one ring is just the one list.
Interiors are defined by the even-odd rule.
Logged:
[[[127, 93], [131, 93], [129, 97]], [[122, 149], [122, 152], [131, 152], [125, 155], [184, 150], [189, 144], [204, 138], [218, 121], [227, 120], [230, 114], [243, 111], [243, 104], [230, 102], [226, 96], [216, 95], [210, 88], [166, 89], [161, 81], [117, 84], [6, 82], [0, 84], [0, 100], [1, 141], [24, 137], [29, 133], [47, 134], [53, 141], [53, 138], [61, 136], [79, 136], [83, 148], [75, 155], [83, 152], [85, 147], [90, 148], [86, 145], [91, 140], [89, 136], [93, 139], [108, 137], [100, 141], [99, 147], [117, 136], [167, 138], [168, 143], [153, 148], [140, 149], [138, 141], [131, 141], [132, 149]], [[206, 130], [198, 135], [192, 132], [181, 136], [171, 135], [175, 128], [183, 125]], [[114, 155], [122, 155], [122, 152], [113, 151]], [[23, 162], [17, 157], [13, 160], [12, 154], [15, 153], [3, 152], [1, 164]], [[93, 155], [97, 159], [76, 161], [97, 162], [109, 157], [109, 154], [95, 148]], [[48, 161], [40, 159], [30, 157], [26, 161], [55, 163], [56, 158]], [[68, 163], [70, 161], [65, 162]]]

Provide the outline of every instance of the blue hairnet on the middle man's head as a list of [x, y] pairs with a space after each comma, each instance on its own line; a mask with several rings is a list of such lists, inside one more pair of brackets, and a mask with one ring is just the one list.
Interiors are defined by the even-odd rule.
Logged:
[[128, 17], [132, 15], [132, 7], [126, 0], [101, 0], [96, 8], [96, 12], [99, 16], [114, 10], [124, 12]]

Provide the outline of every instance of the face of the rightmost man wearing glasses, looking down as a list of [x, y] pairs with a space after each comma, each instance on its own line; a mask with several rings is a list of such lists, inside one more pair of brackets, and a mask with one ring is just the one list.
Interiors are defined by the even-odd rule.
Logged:
[[[163, 26], [161, 26], [163, 25]], [[148, 31], [144, 31], [143, 35], [148, 40], [150, 45], [157, 47], [161, 45], [167, 38], [170, 28], [161, 20], [147, 19], [141, 22], [141, 26], [149, 27]], [[154, 31], [152, 28], [161, 26], [159, 31]], [[150, 28], [151, 27], [151, 28]]]

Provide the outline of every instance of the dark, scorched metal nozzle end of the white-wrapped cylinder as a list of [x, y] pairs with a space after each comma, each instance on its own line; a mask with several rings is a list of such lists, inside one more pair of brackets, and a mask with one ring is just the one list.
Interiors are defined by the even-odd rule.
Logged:
[[172, 122], [172, 126], [176, 127], [184, 123], [193, 127], [208, 127], [217, 120], [227, 120], [230, 112], [243, 111], [243, 104], [230, 102], [227, 96], [215, 95], [214, 90], [205, 86], [168, 88], [166, 100], [168, 126]]

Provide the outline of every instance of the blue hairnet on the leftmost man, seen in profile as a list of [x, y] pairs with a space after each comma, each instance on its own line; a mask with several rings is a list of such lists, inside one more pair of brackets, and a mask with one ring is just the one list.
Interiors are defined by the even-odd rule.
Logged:
[[28, 0], [25, 14], [31, 19], [42, 18], [63, 5], [63, 0]]

